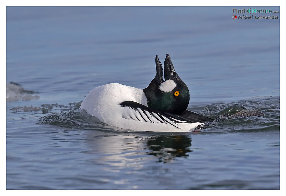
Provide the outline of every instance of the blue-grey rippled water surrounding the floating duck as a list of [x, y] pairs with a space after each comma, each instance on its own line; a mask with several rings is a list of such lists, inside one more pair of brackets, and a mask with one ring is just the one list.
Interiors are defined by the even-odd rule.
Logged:
[[[280, 189], [280, 19], [232, 8], [7, 7], [6, 82], [23, 90], [7, 84], [6, 188]], [[214, 124], [134, 132], [77, 109], [96, 86], [147, 87], [166, 53]], [[224, 117], [245, 109], [265, 114]]]

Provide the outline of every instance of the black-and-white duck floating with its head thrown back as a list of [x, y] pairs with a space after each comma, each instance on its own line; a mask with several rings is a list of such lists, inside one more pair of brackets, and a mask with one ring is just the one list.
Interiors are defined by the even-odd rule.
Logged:
[[190, 101], [188, 86], [166, 54], [163, 66], [155, 57], [156, 75], [147, 88], [119, 83], [91, 90], [80, 108], [110, 126], [152, 132], [191, 132], [214, 119], [186, 110]]

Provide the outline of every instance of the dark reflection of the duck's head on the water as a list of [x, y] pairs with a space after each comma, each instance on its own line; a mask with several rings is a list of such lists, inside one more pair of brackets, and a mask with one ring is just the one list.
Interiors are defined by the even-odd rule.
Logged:
[[192, 140], [189, 136], [152, 136], [147, 141], [147, 146], [150, 150], [148, 154], [158, 156], [159, 162], [169, 162], [174, 157], [186, 157], [187, 152], [192, 152], [189, 149]]

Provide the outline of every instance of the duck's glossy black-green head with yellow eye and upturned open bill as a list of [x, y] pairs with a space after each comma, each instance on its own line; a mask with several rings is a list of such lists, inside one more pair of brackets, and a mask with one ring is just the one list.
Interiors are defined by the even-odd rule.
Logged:
[[155, 78], [147, 88], [143, 89], [147, 97], [148, 107], [171, 114], [181, 114], [189, 105], [190, 92], [188, 86], [175, 72], [169, 54], [166, 55], [164, 62], [165, 81], [163, 80], [163, 67], [158, 55], [155, 62], [157, 71]]

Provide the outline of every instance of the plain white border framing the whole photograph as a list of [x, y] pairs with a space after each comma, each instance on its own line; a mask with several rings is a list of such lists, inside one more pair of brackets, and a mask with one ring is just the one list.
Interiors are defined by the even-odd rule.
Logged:
[[[2, 5], [3, 4], [3, 5]], [[180, 190], [159, 190], [159, 191], [145, 191], [145, 190], [140, 190], [140, 191], [133, 191], [133, 190], [129, 190], [129, 191], [120, 191], [120, 190], [113, 190], [113, 191], [108, 191], [108, 190], [98, 190], [98, 191], [30, 191], [30, 190], [26, 190], [26, 191], [13, 191], [13, 190], [5, 190], [6, 189], [6, 158], [4, 159], [4, 155], [6, 157], [6, 115], [2, 114], [1, 116], [1, 125], [5, 126], [4, 129], [2, 130], [2, 137], [1, 137], [1, 150], [2, 150], [2, 157], [3, 157], [3, 161], [1, 161], [1, 192], [2, 195], [19, 195], [19, 194], [29, 194], [29, 195], [50, 195], [50, 194], [56, 194], [56, 195], [60, 195], [60, 194], [69, 194], [69, 195], [78, 195], [78, 194], [85, 194], [85, 195], [94, 195], [94, 194], [99, 194], [99, 195], [103, 195], [103, 194], [116, 194], [116, 195], [158, 195], [158, 194], [164, 194], [164, 195], [177, 195], [177, 194], [208, 194], [208, 195], [241, 195], [241, 194], [259, 194], [259, 195], [269, 195], [269, 194], [275, 194], [275, 195], [283, 195], [282, 193], [284, 192], [285, 194], [285, 169], [284, 167], [285, 165], [285, 155], [284, 155], [284, 139], [285, 139], [285, 124], [283, 123], [283, 119], [285, 117], [285, 102], [284, 102], [284, 86], [285, 86], [285, 9], [284, 9], [284, 3], [282, 3], [282, 1], [245, 1], [245, 0], [241, 0], [241, 1], [196, 1], [196, 2], [192, 2], [192, 1], [181, 1], [181, 0], [176, 0], [176, 1], [169, 1], [169, 0], [165, 0], [165, 1], [151, 1], [151, 0], [145, 0], [145, 1], [86, 1], [86, 0], [82, 0], [82, 1], [55, 1], [55, 0], [51, 0], [51, 1], [46, 1], [46, 2], [42, 2], [42, 1], [19, 1], [19, 0], [14, 0], [14, 1], [6, 1], [6, 2], [1, 2], [1, 26], [3, 27], [2, 31], [1, 31], [1, 59], [2, 59], [2, 70], [1, 70], [1, 78], [4, 79], [5, 78], [5, 82], [1, 83], [1, 89], [4, 94], [5, 90], [4, 90], [4, 86], [6, 83], [6, 6], [280, 6], [280, 99], [281, 99], [281, 103], [280, 103], [280, 107], [281, 107], [281, 114], [280, 114], [280, 118], [282, 119], [282, 123], [281, 123], [281, 132], [280, 132], [280, 140], [282, 142], [280, 142], [280, 191], [278, 190], [273, 190], [273, 191], [261, 191], [261, 190], [257, 190], [257, 191], [242, 191], [242, 190], [235, 190], [235, 191], [197, 191], [197, 190], [192, 190], [190, 191], [180, 191]], [[284, 32], [284, 33], [283, 33]], [[281, 36], [282, 35], [282, 36]], [[283, 55], [281, 55], [283, 54]], [[4, 62], [5, 61], [5, 62]], [[1, 100], [4, 101], [4, 96], [1, 96]], [[6, 100], [6, 99], [5, 99]], [[4, 105], [4, 104], [3, 104]], [[5, 110], [3, 110], [5, 111]], [[143, 180], [143, 179], [142, 179]]]

